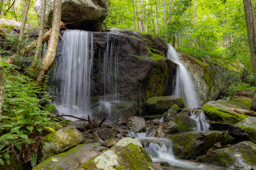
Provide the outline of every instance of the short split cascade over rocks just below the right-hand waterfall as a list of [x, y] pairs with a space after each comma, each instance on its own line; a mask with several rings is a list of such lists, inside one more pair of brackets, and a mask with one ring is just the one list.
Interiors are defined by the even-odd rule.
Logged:
[[209, 130], [210, 124], [205, 120], [205, 115], [202, 110], [190, 111], [190, 118], [196, 121], [197, 131]]

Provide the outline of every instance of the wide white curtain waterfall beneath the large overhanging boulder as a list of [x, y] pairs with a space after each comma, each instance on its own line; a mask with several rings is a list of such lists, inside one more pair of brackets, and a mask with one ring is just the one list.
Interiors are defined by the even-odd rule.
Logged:
[[66, 30], [60, 42], [60, 56], [54, 62], [55, 104], [63, 114], [84, 117], [90, 109], [90, 80], [93, 35], [82, 30]]

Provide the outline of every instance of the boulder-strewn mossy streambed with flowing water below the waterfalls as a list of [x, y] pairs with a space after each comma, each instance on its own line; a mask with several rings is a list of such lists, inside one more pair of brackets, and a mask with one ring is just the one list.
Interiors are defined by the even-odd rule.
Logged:
[[[228, 110], [246, 107], [231, 104], [237, 105], [217, 100], [206, 103], [203, 109], [206, 116], [222, 115], [223, 124], [236, 126], [249, 138], [238, 138], [228, 129], [197, 131], [196, 121], [190, 116], [200, 113], [198, 110], [166, 105], [169, 109], [160, 120], [133, 116], [93, 129], [61, 121], [65, 128], [41, 141], [41, 163], [34, 169], [255, 169], [256, 117]], [[217, 116], [209, 117], [211, 124], [212, 117]]]

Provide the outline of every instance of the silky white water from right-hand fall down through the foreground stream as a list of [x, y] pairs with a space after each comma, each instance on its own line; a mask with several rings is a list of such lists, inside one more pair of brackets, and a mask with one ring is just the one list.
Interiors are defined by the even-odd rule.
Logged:
[[[189, 108], [197, 108], [199, 107], [199, 104], [196, 96], [196, 90], [189, 72], [185, 65], [180, 62], [179, 56], [175, 52], [174, 48], [171, 45], [168, 45], [168, 47], [167, 58], [179, 65], [174, 81], [175, 89], [172, 95], [182, 97]], [[195, 130], [202, 131], [209, 129], [210, 125], [205, 120], [205, 115], [202, 110], [191, 110], [190, 118], [196, 121]], [[150, 132], [136, 134], [131, 132], [129, 135], [141, 141], [143, 149], [148, 152], [154, 163], [167, 163], [168, 166], [163, 166], [164, 169], [221, 169], [219, 167], [176, 158], [172, 151], [173, 143], [170, 139], [150, 137]]]

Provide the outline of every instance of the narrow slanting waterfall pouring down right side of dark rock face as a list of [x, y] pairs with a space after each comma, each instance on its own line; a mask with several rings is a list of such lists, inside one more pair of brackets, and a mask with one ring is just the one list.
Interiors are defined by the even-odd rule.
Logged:
[[179, 96], [185, 100], [185, 104], [189, 108], [199, 107], [196, 90], [193, 81], [190, 78], [189, 72], [185, 65], [183, 65], [175, 49], [168, 44], [167, 58], [179, 65], [177, 75], [175, 78], [174, 91], [172, 95]]

